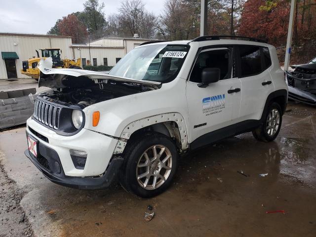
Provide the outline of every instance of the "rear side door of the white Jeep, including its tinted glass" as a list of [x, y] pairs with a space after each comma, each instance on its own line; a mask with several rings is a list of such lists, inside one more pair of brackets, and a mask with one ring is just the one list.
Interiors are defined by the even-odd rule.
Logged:
[[269, 68], [271, 58], [267, 47], [237, 46], [237, 75], [242, 87], [239, 121], [261, 118], [266, 99], [274, 91]]

